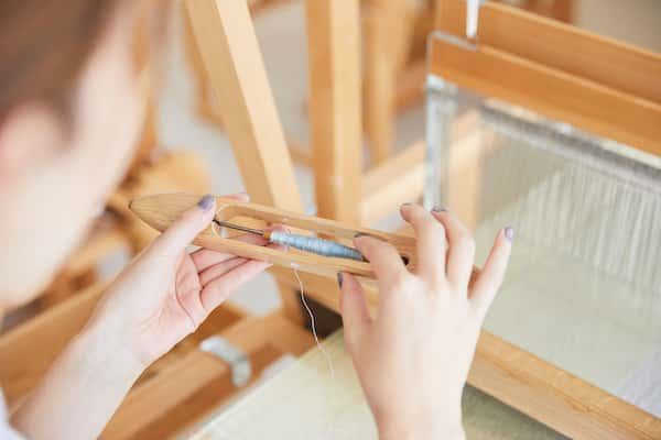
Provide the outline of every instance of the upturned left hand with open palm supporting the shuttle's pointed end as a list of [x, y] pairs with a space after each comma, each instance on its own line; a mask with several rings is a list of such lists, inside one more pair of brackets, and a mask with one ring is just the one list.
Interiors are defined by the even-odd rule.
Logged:
[[[228, 196], [247, 201], [246, 195]], [[186, 246], [212, 222], [215, 198], [205, 196], [184, 212], [124, 270], [105, 294], [90, 323], [120, 338], [145, 367], [192, 333], [239, 286], [269, 263], [228, 253]], [[241, 235], [257, 245], [267, 241]]]

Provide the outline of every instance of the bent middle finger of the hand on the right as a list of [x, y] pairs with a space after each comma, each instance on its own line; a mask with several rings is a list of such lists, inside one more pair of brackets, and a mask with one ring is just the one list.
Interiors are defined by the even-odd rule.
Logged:
[[423, 277], [445, 277], [445, 229], [423, 207], [402, 205], [402, 218], [411, 223], [418, 241], [418, 274]]

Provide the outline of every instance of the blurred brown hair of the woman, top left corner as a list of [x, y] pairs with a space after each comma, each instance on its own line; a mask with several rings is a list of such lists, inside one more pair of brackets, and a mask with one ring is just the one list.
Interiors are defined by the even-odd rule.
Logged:
[[28, 100], [68, 117], [80, 70], [122, 1], [0, 1], [0, 124]]

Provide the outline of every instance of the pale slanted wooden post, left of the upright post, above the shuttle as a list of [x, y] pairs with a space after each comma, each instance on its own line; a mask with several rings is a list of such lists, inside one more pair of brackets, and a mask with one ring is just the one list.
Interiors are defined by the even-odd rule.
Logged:
[[256, 202], [302, 211], [248, 6], [237, 0], [185, 4], [248, 193]]

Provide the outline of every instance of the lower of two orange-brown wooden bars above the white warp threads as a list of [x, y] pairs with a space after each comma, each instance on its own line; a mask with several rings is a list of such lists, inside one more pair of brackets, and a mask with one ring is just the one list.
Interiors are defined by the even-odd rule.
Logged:
[[660, 103], [440, 34], [430, 44], [430, 72], [477, 94], [661, 155]]

